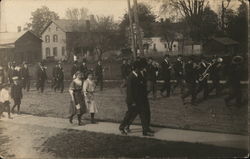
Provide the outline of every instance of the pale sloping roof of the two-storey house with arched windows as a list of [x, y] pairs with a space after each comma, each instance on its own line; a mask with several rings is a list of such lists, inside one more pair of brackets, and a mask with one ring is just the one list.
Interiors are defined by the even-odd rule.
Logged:
[[[58, 20], [52, 20], [48, 24], [45, 25], [43, 32], [52, 24], [56, 24], [59, 28], [61, 28], [64, 32], [75, 32], [77, 31], [77, 28], [75, 27], [78, 24], [78, 21], [76, 20], [68, 20], [68, 19], [58, 19]], [[84, 24], [85, 25], [85, 24]]]

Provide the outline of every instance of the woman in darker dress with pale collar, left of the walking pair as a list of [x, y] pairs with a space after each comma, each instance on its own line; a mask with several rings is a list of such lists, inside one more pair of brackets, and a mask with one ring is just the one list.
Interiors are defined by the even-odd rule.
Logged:
[[75, 76], [76, 78], [71, 82], [69, 86], [69, 93], [71, 96], [69, 122], [73, 123], [73, 117], [77, 114], [78, 125], [81, 125], [82, 115], [86, 112], [86, 105], [82, 92], [83, 75], [78, 71], [76, 72]]

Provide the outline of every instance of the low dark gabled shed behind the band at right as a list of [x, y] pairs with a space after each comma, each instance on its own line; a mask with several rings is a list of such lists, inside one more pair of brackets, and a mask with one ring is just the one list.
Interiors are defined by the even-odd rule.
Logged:
[[232, 55], [236, 53], [239, 43], [228, 37], [215, 37], [203, 44], [207, 55]]

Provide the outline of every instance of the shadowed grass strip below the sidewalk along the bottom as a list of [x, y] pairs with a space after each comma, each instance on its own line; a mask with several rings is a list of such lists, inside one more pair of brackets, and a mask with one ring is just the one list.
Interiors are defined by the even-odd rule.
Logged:
[[65, 130], [49, 138], [43, 146], [46, 147], [44, 152], [64, 158], [232, 158], [247, 155], [244, 150], [199, 143], [160, 141], [76, 130]]

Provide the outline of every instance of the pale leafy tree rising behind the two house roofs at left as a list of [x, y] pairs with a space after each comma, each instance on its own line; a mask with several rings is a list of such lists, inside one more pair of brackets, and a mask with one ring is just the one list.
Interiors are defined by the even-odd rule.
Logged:
[[50, 11], [47, 6], [42, 6], [31, 13], [30, 23], [26, 28], [31, 29], [36, 35], [40, 36], [46, 24], [51, 20], [57, 20], [59, 16], [54, 11]]

